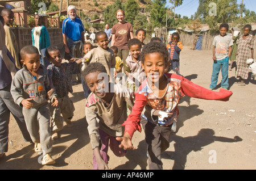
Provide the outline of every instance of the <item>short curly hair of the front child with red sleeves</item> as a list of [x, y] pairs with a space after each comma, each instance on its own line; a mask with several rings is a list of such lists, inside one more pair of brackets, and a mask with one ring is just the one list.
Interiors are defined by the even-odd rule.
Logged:
[[166, 64], [168, 64], [168, 58], [169, 58], [169, 53], [168, 49], [166, 46], [162, 43], [156, 42], [156, 41], [151, 41], [150, 43], [144, 45], [141, 53], [141, 62], [144, 64], [145, 56], [146, 54], [150, 53], [160, 53], [162, 54], [164, 61]]

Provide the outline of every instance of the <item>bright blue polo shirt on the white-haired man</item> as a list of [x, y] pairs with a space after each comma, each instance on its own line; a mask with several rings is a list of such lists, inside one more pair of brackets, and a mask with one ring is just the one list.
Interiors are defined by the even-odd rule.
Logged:
[[84, 30], [84, 25], [79, 18], [75, 18], [75, 20], [72, 20], [70, 17], [68, 17], [63, 21], [62, 33], [67, 35], [67, 37], [69, 37], [73, 41], [81, 40], [81, 33]]

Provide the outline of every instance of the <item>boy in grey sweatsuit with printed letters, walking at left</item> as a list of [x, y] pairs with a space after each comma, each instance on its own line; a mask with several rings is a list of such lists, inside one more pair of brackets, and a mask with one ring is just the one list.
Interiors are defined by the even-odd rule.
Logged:
[[[42, 165], [51, 165], [52, 140], [50, 129], [50, 112], [48, 98], [52, 106], [58, 101], [54, 89], [50, 89], [47, 69], [40, 64], [38, 49], [27, 45], [20, 50], [23, 68], [17, 71], [11, 83], [11, 94], [14, 102], [22, 107], [22, 113], [35, 143], [35, 151], [43, 150]], [[49, 90], [49, 91], [48, 91]]]

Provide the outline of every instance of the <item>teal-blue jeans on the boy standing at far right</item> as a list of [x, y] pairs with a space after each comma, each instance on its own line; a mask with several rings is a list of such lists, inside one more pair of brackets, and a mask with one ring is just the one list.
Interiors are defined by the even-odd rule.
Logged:
[[210, 83], [210, 89], [214, 89], [217, 86], [218, 74], [221, 70], [221, 87], [228, 89], [229, 87], [229, 57], [222, 60], [217, 60], [217, 63], [213, 63], [212, 78]]

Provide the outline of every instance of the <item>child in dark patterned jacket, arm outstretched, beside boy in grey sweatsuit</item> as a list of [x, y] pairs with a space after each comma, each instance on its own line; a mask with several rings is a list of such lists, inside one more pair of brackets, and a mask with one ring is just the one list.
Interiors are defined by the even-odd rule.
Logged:
[[60, 49], [56, 46], [47, 48], [46, 57], [51, 62], [47, 67], [48, 77], [53, 87], [55, 87], [59, 102], [58, 106], [50, 106], [52, 139], [55, 139], [60, 136], [59, 131], [63, 129], [63, 121], [68, 127], [72, 127], [71, 119], [74, 115], [75, 107], [68, 94], [73, 92], [71, 78], [73, 71], [78, 69], [79, 64], [81, 64], [81, 60], [74, 61], [75, 58], [72, 58], [69, 63], [62, 63]]

